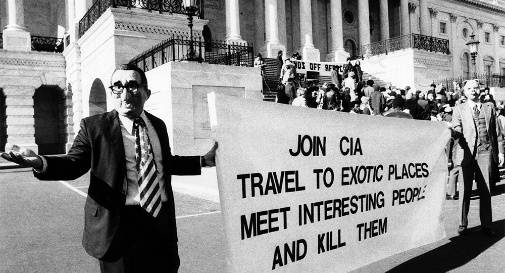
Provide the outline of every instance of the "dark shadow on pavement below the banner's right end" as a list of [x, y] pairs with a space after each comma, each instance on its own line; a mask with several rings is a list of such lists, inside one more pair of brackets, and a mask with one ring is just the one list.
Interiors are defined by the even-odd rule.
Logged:
[[408, 260], [387, 272], [447, 272], [458, 268], [505, 237], [505, 220], [495, 221], [493, 230], [497, 234], [496, 238], [485, 236], [481, 226], [468, 229], [467, 236], [452, 237], [449, 239], [450, 243]]

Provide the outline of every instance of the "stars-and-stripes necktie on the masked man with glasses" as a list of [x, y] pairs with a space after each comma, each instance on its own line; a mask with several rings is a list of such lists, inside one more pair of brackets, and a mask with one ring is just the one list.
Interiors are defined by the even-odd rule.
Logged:
[[135, 159], [140, 206], [150, 215], [156, 217], [161, 209], [161, 188], [155, 155], [147, 135], [147, 127], [141, 117], [134, 120], [133, 131], [135, 133]]

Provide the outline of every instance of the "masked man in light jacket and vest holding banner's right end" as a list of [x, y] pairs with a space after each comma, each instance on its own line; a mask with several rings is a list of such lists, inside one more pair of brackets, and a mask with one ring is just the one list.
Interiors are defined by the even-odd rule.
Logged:
[[[492, 208], [490, 185], [491, 161], [503, 163], [503, 136], [497, 134], [496, 117], [492, 103], [480, 101], [479, 80], [464, 83], [464, 93], [468, 101], [452, 110], [451, 136], [459, 139], [459, 145], [453, 162], [462, 166], [463, 197], [462, 217], [458, 228], [460, 235], [466, 235], [468, 229], [468, 211], [470, 196], [475, 179], [479, 191], [479, 209], [482, 232], [488, 237], [496, 237], [492, 229]], [[499, 137], [499, 139], [498, 139]]]

